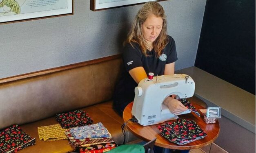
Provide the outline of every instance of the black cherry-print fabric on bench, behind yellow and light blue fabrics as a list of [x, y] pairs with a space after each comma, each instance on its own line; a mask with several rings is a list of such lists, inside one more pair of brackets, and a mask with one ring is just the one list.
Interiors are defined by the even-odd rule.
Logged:
[[64, 129], [90, 125], [93, 122], [93, 119], [85, 111], [82, 110], [75, 110], [67, 113], [56, 114], [56, 120]]

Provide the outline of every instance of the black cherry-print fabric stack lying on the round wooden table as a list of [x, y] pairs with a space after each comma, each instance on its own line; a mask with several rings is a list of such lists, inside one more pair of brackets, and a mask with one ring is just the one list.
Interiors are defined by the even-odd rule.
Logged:
[[204, 138], [207, 134], [196, 124], [194, 120], [178, 118], [175, 122], [168, 122], [157, 127], [161, 135], [170, 142], [187, 144]]

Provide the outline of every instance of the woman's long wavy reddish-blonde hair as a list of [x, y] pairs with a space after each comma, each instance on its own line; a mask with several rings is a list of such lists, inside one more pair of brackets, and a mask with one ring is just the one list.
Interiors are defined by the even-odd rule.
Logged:
[[[128, 33], [126, 43], [132, 45], [132, 43], [137, 43], [140, 46], [140, 49], [144, 55], [147, 56], [147, 49], [149, 49], [149, 45], [142, 35], [142, 24], [147, 20], [147, 17], [150, 15], [155, 15], [156, 17], [161, 17], [163, 19], [163, 27], [153, 42], [153, 48], [156, 52], [156, 56], [160, 57], [162, 50], [168, 44], [169, 39], [167, 37], [167, 21], [165, 16], [165, 11], [163, 7], [158, 2], [147, 2], [144, 6], [138, 11], [135, 20], [131, 26], [131, 30]], [[134, 47], [134, 46], [133, 46]]]

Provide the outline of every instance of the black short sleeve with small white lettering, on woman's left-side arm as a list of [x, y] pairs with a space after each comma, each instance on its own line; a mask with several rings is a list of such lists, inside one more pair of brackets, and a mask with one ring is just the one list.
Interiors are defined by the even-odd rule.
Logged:
[[142, 65], [142, 53], [138, 46], [127, 44], [123, 50], [123, 60], [125, 69], [127, 72], [133, 68], [143, 66]]

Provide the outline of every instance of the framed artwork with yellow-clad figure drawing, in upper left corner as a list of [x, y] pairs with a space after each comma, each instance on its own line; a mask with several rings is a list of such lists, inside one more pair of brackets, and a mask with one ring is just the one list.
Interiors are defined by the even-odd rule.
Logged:
[[73, 0], [0, 0], [0, 24], [73, 14]]

